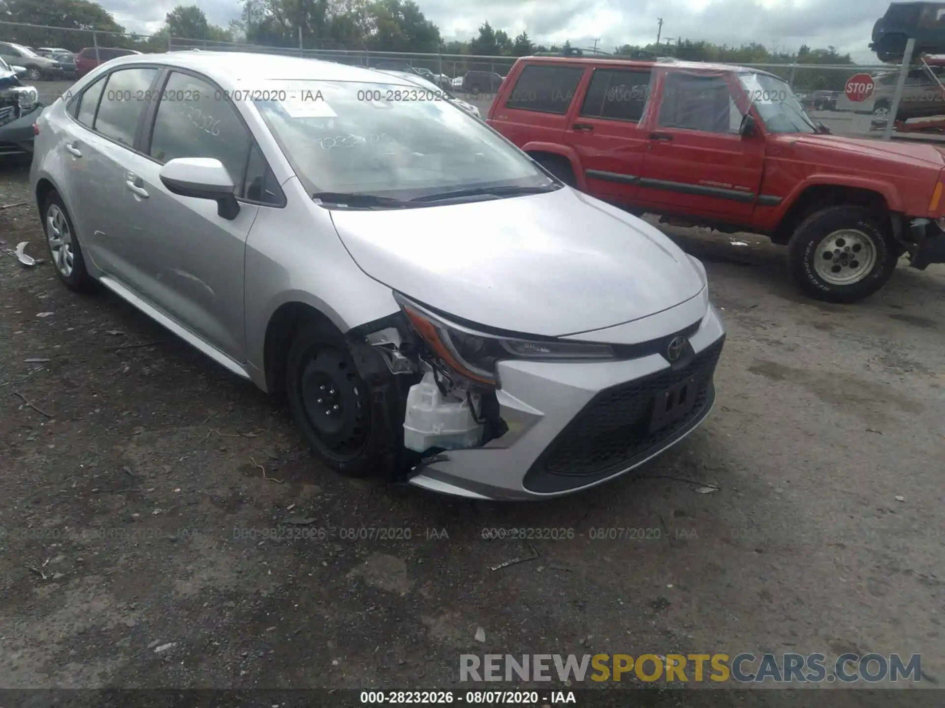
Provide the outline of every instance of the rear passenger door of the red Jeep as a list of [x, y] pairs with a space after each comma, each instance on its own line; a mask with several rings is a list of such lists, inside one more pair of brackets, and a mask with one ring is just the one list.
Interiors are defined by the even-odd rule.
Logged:
[[589, 194], [621, 203], [636, 198], [648, 135], [640, 123], [652, 74], [648, 66], [593, 70], [564, 129], [564, 143], [577, 154]]

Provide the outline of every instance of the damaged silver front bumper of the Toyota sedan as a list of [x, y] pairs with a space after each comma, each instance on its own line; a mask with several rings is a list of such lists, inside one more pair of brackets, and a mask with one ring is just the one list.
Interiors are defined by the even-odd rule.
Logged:
[[[619, 336], [619, 329], [609, 331]], [[610, 362], [499, 362], [495, 396], [505, 434], [483, 447], [439, 450], [408, 481], [461, 497], [536, 499], [618, 477], [678, 443], [711, 412], [724, 337], [709, 306], [689, 332], [692, 348], [674, 365], [659, 353]], [[686, 396], [687, 386], [695, 402], [654, 427], [655, 401], [666, 392]]]

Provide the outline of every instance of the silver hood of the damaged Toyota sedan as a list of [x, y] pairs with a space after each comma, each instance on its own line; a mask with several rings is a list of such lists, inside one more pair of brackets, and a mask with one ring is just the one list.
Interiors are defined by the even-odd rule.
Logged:
[[332, 211], [371, 278], [441, 312], [541, 336], [603, 329], [698, 295], [662, 232], [570, 187], [465, 204]]

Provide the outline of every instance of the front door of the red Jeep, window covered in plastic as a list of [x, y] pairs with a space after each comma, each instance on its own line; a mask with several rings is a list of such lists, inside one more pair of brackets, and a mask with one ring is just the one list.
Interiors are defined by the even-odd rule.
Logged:
[[739, 133], [744, 93], [730, 72], [662, 70], [649, 111], [638, 200], [655, 211], [750, 222], [765, 139]]

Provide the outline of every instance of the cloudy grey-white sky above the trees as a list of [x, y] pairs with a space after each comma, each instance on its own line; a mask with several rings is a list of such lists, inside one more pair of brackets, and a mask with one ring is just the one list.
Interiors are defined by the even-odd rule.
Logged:
[[[165, 13], [187, 0], [99, 0], [129, 29], [153, 31]], [[868, 50], [873, 23], [888, 0], [418, 0], [444, 38], [469, 39], [485, 21], [509, 35], [523, 30], [538, 42], [570, 40], [578, 46], [612, 51], [623, 43], [656, 39], [657, 18], [662, 37], [682, 37], [741, 44], [762, 42], [796, 50], [801, 43], [829, 44], [853, 59], [875, 60]], [[216, 25], [239, 14], [239, 0], [197, 0]]]

